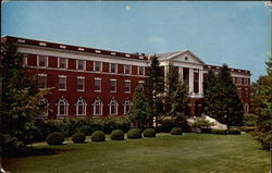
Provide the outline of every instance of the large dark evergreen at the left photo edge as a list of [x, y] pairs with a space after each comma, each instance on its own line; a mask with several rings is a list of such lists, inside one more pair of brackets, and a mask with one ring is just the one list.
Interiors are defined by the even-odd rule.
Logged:
[[12, 42], [1, 42], [1, 134], [26, 146], [36, 131], [34, 118], [44, 111], [38, 102], [49, 89], [36, 88], [35, 78], [23, 66], [23, 54]]

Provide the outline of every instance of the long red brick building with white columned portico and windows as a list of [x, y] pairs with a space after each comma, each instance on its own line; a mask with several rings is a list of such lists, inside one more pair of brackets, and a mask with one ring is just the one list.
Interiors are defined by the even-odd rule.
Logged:
[[[5, 36], [24, 53], [24, 65], [38, 78], [39, 87], [53, 87], [41, 100], [49, 108], [40, 119], [70, 116], [126, 115], [134, 90], [148, 77], [149, 55], [109, 51], [42, 40]], [[202, 112], [202, 82], [209, 70], [189, 50], [158, 54], [164, 74], [170, 62], [178, 69], [178, 77], [189, 86], [187, 114]], [[250, 72], [230, 69], [245, 112], [249, 111]]]

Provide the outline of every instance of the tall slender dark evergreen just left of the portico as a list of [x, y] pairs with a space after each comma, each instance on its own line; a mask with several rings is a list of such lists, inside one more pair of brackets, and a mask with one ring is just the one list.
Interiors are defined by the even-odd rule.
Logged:
[[157, 55], [154, 54], [151, 59], [149, 77], [147, 78], [144, 88], [152, 114], [156, 118], [156, 125], [158, 125], [159, 116], [162, 113], [161, 95], [163, 92], [163, 76], [160, 69], [160, 63]]

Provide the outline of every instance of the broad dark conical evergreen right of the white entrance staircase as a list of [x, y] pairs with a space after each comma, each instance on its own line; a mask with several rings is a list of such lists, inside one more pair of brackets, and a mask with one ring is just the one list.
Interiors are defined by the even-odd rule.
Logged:
[[218, 74], [217, 97], [213, 107], [217, 111], [217, 120], [226, 124], [227, 128], [243, 125], [244, 108], [225, 64]]

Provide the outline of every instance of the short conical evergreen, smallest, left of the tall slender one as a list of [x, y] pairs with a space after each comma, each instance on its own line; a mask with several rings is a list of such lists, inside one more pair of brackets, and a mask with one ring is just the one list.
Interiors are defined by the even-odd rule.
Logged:
[[133, 98], [133, 107], [129, 112], [129, 120], [137, 123], [139, 127], [146, 126], [152, 121], [152, 112], [141, 88], [137, 87]]

